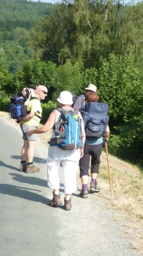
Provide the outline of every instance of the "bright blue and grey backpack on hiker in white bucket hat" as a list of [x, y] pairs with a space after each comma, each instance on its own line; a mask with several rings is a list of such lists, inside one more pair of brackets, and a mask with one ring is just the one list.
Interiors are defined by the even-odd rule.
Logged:
[[81, 119], [78, 110], [57, 109], [60, 113], [58, 129], [54, 127], [55, 138], [50, 145], [57, 145], [64, 150], [76, 150], [82, 146]]

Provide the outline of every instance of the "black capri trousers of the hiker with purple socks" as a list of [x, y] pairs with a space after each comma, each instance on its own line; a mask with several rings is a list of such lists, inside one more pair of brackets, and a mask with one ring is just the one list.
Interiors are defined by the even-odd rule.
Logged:
[[102, 143], [95, 144], [85, 144], [84, 145], [84, 156], [80, 159], [80, 177], [84, 175], [89, 176], [89, 164], [90, 164], [90, 156], [91, 156], [91, 174], [99, 173], [99, 164], [100, 164], [100, 156], [102, 153]]

